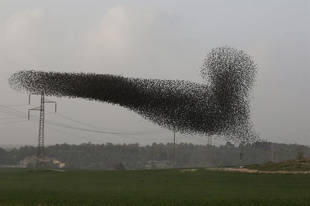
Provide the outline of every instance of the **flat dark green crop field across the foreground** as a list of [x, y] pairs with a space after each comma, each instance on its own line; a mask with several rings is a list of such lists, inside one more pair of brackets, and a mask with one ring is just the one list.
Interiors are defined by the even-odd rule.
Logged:
[[310, 205], [310, 174], [0, 168], [0, 205]]

